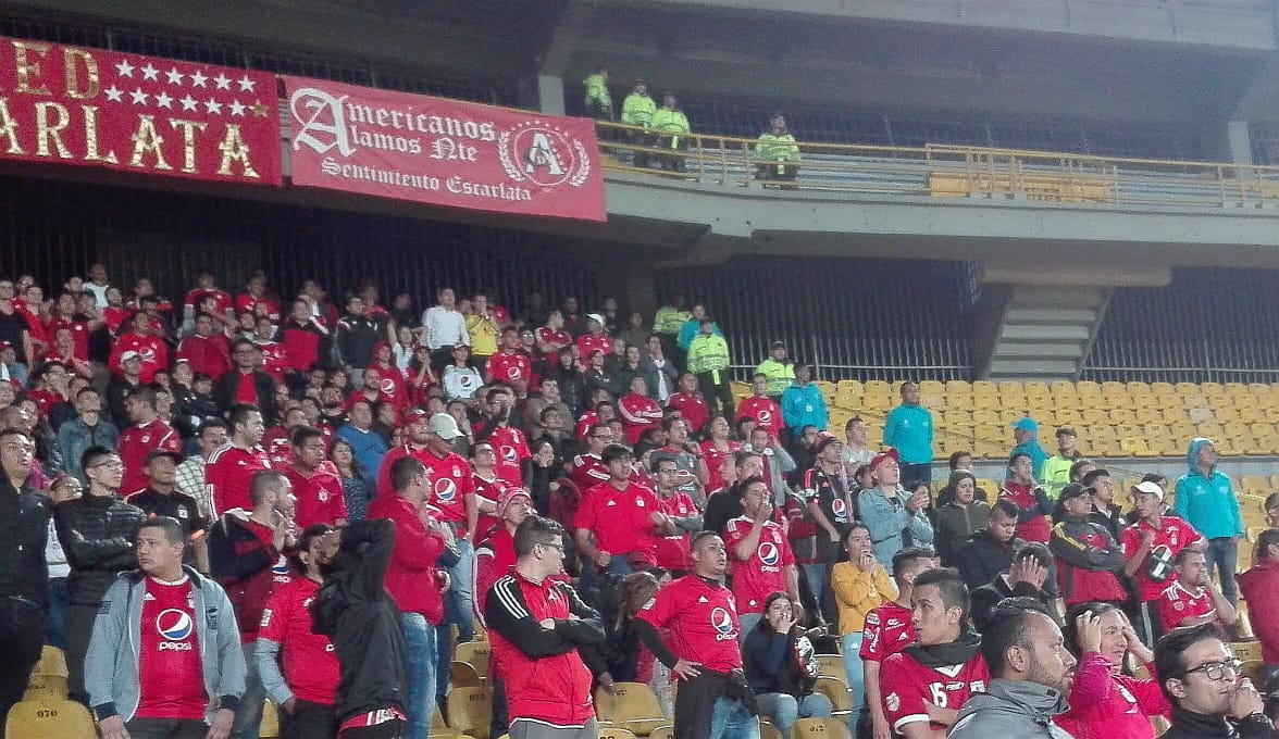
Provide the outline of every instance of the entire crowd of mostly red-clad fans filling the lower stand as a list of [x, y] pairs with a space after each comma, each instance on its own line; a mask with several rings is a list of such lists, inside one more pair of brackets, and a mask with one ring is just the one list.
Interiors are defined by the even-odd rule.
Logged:
[[[0, 280], [0, 715], [47, 641], [107, 739], [253, 738], [266, 699], [286, 736], [425, 739], [478, 619], [492, 736], [593, 738], [592, 688], [633, 681], [682, 739], [789, 734], [830, 715], [836, 651], [876, 739], [1273, 735], [1229, 652], [1243, 525], [1209, 440], [1129, 510], [1028, 418], [998, 491], [964, 453], [934, 491], [913, 382], [871, 444], [781, 341], [735, 401], [678, 297], [651, 322], [413, 298]], [[1256, 545], [1269, 676], [1279, 529]]]

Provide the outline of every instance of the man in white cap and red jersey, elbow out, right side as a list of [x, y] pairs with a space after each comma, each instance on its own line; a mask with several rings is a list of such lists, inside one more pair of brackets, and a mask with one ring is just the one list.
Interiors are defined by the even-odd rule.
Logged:
[[1207, 540], [1175, 515], [1164, 515], [1164, 488], [1154, 482], [1137, 483], [1132, 494], [1138, 518], [1123, 529], [1123, 572], [1137, 591], [1138, 618], [1133, 625], [1145, 643], [1154, 644], [1164, 633], [1159, 600], [1175, 577], [1173, 559], [1186, 547], [1206, 547]]

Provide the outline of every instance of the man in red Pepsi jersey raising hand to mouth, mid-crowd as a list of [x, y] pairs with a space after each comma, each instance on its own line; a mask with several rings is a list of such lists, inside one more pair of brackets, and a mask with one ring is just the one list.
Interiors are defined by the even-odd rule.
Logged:
[[803, 618], [803, 609], [796, 557], [787, 532], [773, 520], [769, 486], [761, 477], [749, 477], [738, 487], [742, 515], [724, 527], [724, 545], [733, 552], [733, 597], [744, 639], [764, 618], [764, 602], [770, 593], [785, 592], [797, 619]]

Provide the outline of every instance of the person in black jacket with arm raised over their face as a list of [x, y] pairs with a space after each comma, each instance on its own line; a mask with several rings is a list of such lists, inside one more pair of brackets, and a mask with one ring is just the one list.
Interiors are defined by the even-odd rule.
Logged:
[[339, 739], [391, 739], [404, 726], [407, 644], [388, 592], [395, 524], [359, 520], [340, 533], [338, 555], [311, 603], [315, 632], [338, 656], [334, 717]]

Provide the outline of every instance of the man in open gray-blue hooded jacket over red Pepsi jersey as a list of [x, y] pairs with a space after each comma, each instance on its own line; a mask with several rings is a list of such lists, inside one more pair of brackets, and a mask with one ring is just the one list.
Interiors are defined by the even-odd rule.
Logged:
[[178, 522], [146, 520], [139, 570], [102, 598], [84, 660], [102, 739], [224, 739], [240, 711], [247, 667], [231, 603], [183, 566], [184, 548]]

